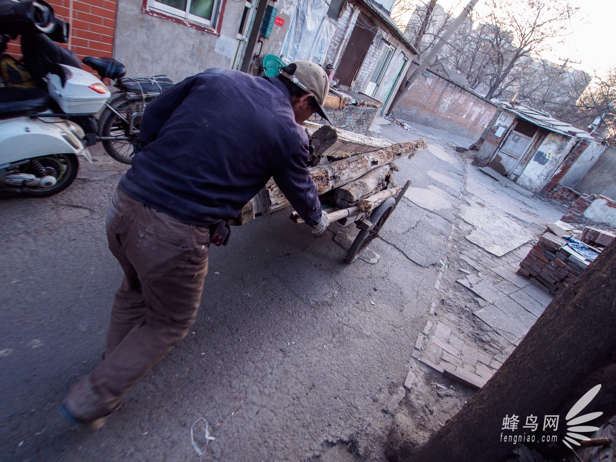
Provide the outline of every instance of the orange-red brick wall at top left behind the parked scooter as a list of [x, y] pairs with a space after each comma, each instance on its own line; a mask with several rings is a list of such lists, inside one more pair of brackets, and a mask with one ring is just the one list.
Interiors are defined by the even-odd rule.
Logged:
[[[47, 0], [57, 17], [70, 22], [71, 0]], [[113, 54], [113, 28], [116, 0], [73, 0], [73, 27], [70, 49], [79, 59], [84, 56], [111, 56]], [[68, 48], [68, 44], [62, 45]], [[9, 43], [7, 52], [21, 57], [17, 43]]]

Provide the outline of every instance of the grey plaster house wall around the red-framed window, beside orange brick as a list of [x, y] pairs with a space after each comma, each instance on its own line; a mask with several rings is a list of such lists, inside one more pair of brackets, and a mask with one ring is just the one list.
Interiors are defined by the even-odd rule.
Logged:
[[222, 45], [237, 42], [244, 2], [227, 1], [220, 37], [154, 17], [141, 6], [142, 0], [118, 2], [113, 56], [126, 65], [127, 76], [166, 74], [179, 82], [209, 67], [232, 65], [234, 55]]

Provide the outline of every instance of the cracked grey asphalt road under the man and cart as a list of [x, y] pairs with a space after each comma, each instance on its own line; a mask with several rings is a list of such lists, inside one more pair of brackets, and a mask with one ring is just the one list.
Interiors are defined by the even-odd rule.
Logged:
[[[418, 137], [398, 126], [379, 136]], [[403, 199], [370, 247], [376, 264], [344, 264], [338, 225], [314, 238], [288, 209], [233, 228], [228, 247], [211, 248], [187, 338], [99, 432], [68, 430], [55, 407], [100, 360], [122, 277], [105, 214], [126, 168], [96, 150], [64, 192], [0, 200], [3, 459], [197, 460], [190, 426], [203, 417], [216, 460], [304, 461], [336, 442], [348, 460], [384, 460], [392, 418], [381, 408], [407, 375], [464, 185], [449, 152], [397, 161], [397, 182], [411, 179], [428, 202]], [[451, 208], [431, 210], [429, 193]]]

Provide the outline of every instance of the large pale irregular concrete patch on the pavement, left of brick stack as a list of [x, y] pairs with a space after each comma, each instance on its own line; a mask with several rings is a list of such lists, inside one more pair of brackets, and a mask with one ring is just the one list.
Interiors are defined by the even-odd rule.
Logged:
[[516, 222], [488, 208], [468, 207], [462, 218], [476, 228], [466, 238], [499, 257], [533, 238]]

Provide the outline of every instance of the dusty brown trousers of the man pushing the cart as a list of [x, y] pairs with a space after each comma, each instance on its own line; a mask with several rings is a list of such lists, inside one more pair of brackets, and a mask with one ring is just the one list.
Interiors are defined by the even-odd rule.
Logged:
[[120, 188], [109, 205], [107, 240], [124, 280], [111, 308], [103, 361], [65, 400], [83, 422], [115, 410], [186, 336], [208, 273], [209, 227], [184, 224]]

